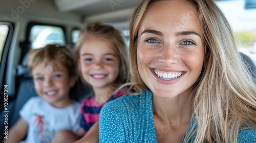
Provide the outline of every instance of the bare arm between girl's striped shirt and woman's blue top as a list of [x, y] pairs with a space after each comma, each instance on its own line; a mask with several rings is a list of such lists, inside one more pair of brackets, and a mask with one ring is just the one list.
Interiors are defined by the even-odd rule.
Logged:
[[95, 122], [90, 130], [84, 135], [81, 139], [77, 140], [74, 143], [90, 142], [97, 143], [99, 142], [99, 122]]

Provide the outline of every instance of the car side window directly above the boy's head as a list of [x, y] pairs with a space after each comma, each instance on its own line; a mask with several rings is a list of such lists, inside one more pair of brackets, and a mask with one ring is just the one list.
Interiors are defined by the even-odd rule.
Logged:
[[38, 26], [31, 28], [30, 41], [32, 49], [38, 49], [47, 44], [65, 44], [65, 35], [60, 27]]

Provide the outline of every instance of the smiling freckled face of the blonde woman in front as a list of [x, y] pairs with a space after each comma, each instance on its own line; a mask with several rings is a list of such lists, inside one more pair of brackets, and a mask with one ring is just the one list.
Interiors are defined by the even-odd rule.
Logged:
[[204, 61], [204, 42], [198, 12], [190, 2], [151, 4], [139, 27], [139, 74], [162, 98], [190, 94]]

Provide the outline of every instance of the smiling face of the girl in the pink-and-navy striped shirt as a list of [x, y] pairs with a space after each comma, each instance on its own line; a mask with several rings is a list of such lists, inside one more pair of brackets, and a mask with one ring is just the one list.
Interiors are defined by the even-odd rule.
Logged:
[[81, 47], [78, 68], [93, 88], [115, 86], [120, 62], [112, 46], [103, 39], [90, 37]]

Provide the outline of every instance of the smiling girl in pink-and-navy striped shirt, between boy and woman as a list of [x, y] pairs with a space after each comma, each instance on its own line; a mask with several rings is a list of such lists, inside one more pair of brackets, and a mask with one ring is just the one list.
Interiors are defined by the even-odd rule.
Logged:
[[[80, 32], [75, 60], [83, 82], [91, 85], [94, 91], [93, 96], [81, 103], [79, 133], [86, 136], [77, 142], [98, 142], [98, 123], [95, 122], [99, 120], [101, 107], [124, 94], [123, 90], [113, 92], [128, 80], [127, 47], [118, 30], [103, 23], [93, 23]], [[93, 125], [94, 129], [88, 133]]]

